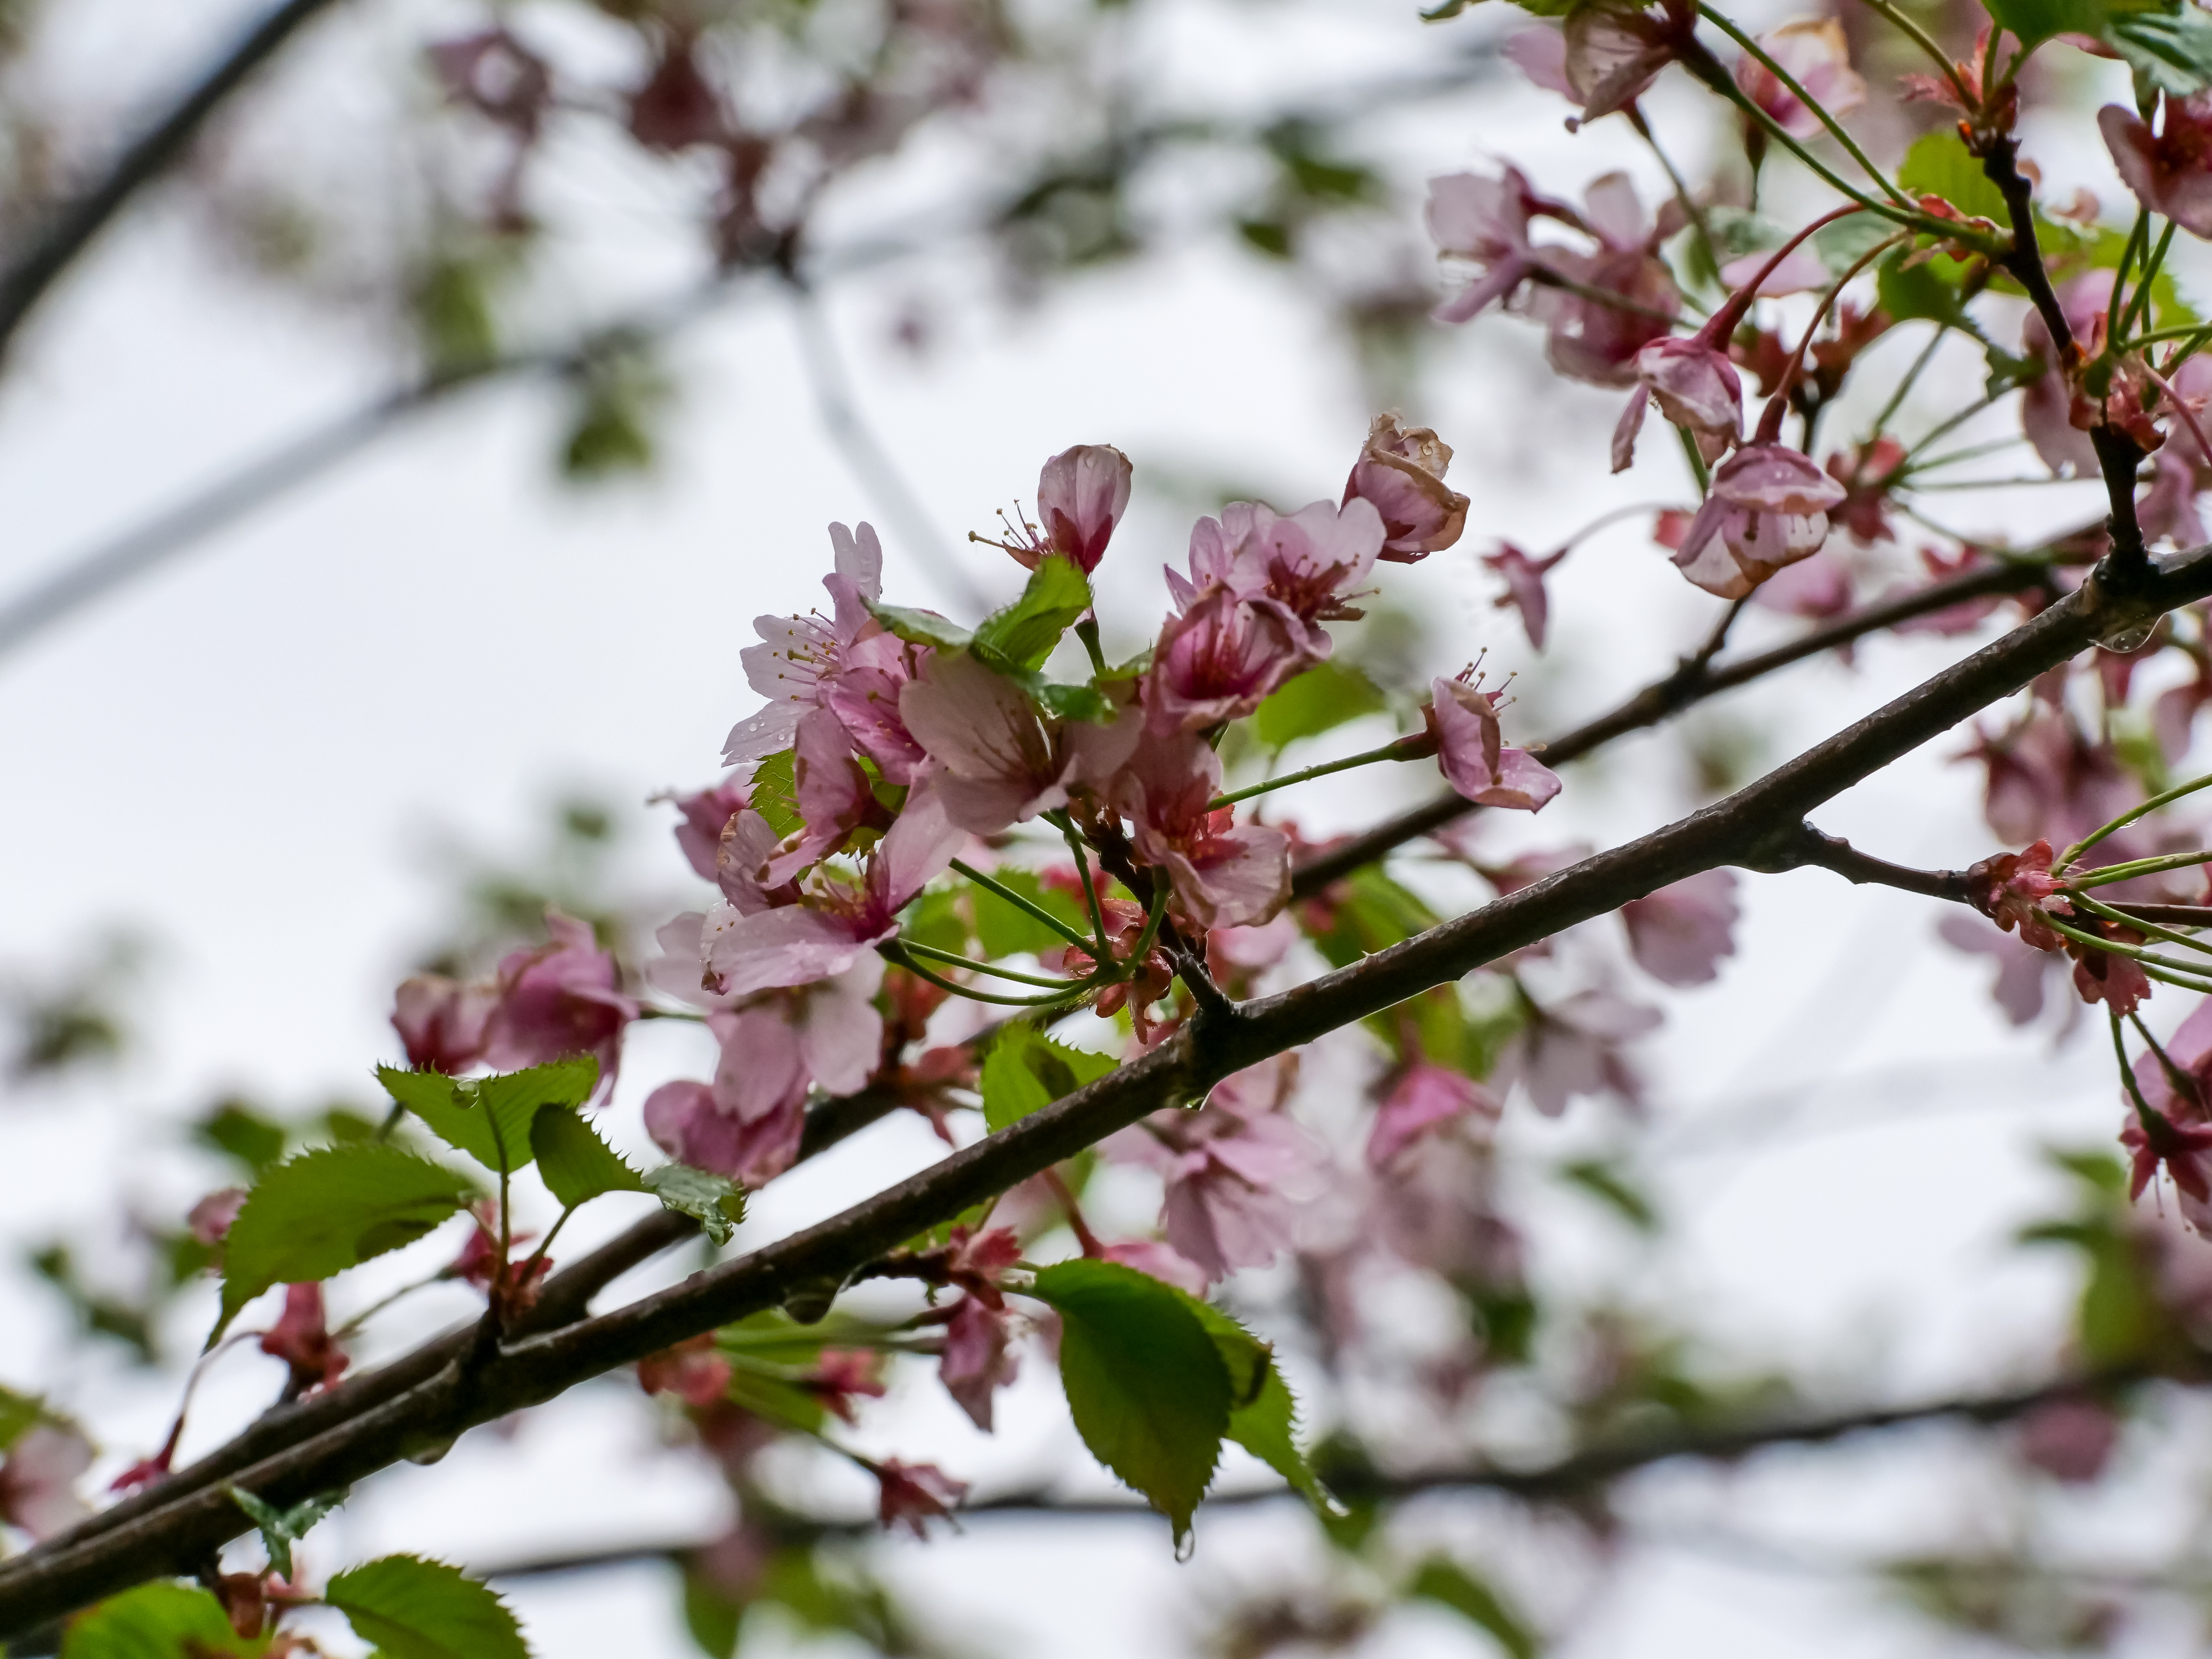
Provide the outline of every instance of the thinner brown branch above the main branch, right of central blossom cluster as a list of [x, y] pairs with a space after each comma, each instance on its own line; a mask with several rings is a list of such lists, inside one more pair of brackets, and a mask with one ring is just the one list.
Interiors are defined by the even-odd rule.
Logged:
[[[2062, 538], [2053, 546], [2068, 546], [2079, 540], [2081, 533], [2075, 533]], [[1752, 657], [1743, 657], [1741, 661], [1723, 664], [1721, 668], [1712, 668], [1699, 657], [1683, 657], [1674, 672], [1666, 679], [1652, 681], [1626, 703], [1619, 703], [1593, 721], [1584, 721], [1564, 737], [1540, 743], [1535, 752], [1544, 757], [1546, 765], [1566, 765], [1568, 761], [1579, 761], [1601, 743], [1610, 743], [1615, 737], [1626, 737], [1628, 732], [1657, 726], [1692, 703], [1701, 703], [1703, 699], [1734, 690], [1736, 686], [1747, 686], [1754, 679], [1763, 679], [1778, 668], [1801, 664], [1807, 657], [1818, 657], [1836, 650], [1838, 646], [1849, 646], [1854, 639], [1880, 633], [1882, 628], [1893, 628], [1900, 622], [1911, 622], [1913, 617], [1949, 611], [1955, 604], [1982, 599], [1993, 593], [2026, 593], [2028, 588], [2044, 588], [2053, 597], [2057, 593], [2046, 564], [2013, 560], [1969, 571], [1966, 575], [1951, 577], [1949, 582], [1936, 582], [1898, 599], [1869, 604], [1865, 611], [1854, 611], [1851, 615], [1838, 617], [1823, 628], [1812, 628], [1798, 639], [1792, 639], [1787, 646], [1774, 646], [1772, 650], [1761, 650]], [[1338, 845], [1301, 860], [1298, 869], [1292, 874], [1292, 894], [1296, 898], [1312, 898], [1332, 880], [1343, 880], [1360, 865], [1371, 865], [1376, 858], [1396, 852], [1409, 841], [1436, 834], [1447, 823], [1469, 812], [1480, 812], [1480, 807], [1458, 794], [1444, 794], [1422, 807], [1400, 812], [1396, 818], [1387, 818], [1374, 830], [1352, 836], [1349, 841], [1340, 841]]]

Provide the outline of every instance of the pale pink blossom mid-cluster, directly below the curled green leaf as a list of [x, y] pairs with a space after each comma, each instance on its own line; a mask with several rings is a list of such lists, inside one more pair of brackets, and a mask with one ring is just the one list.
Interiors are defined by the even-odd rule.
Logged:
[[907, 730], [942, 770], [938, 799], [960, 830], [993, 836], [1097, 790], [1144, 737], [1130, 708], [1110, 726], [1046, 721], [1029, 695], [967, 653], [938, 653], [898, 697]]

